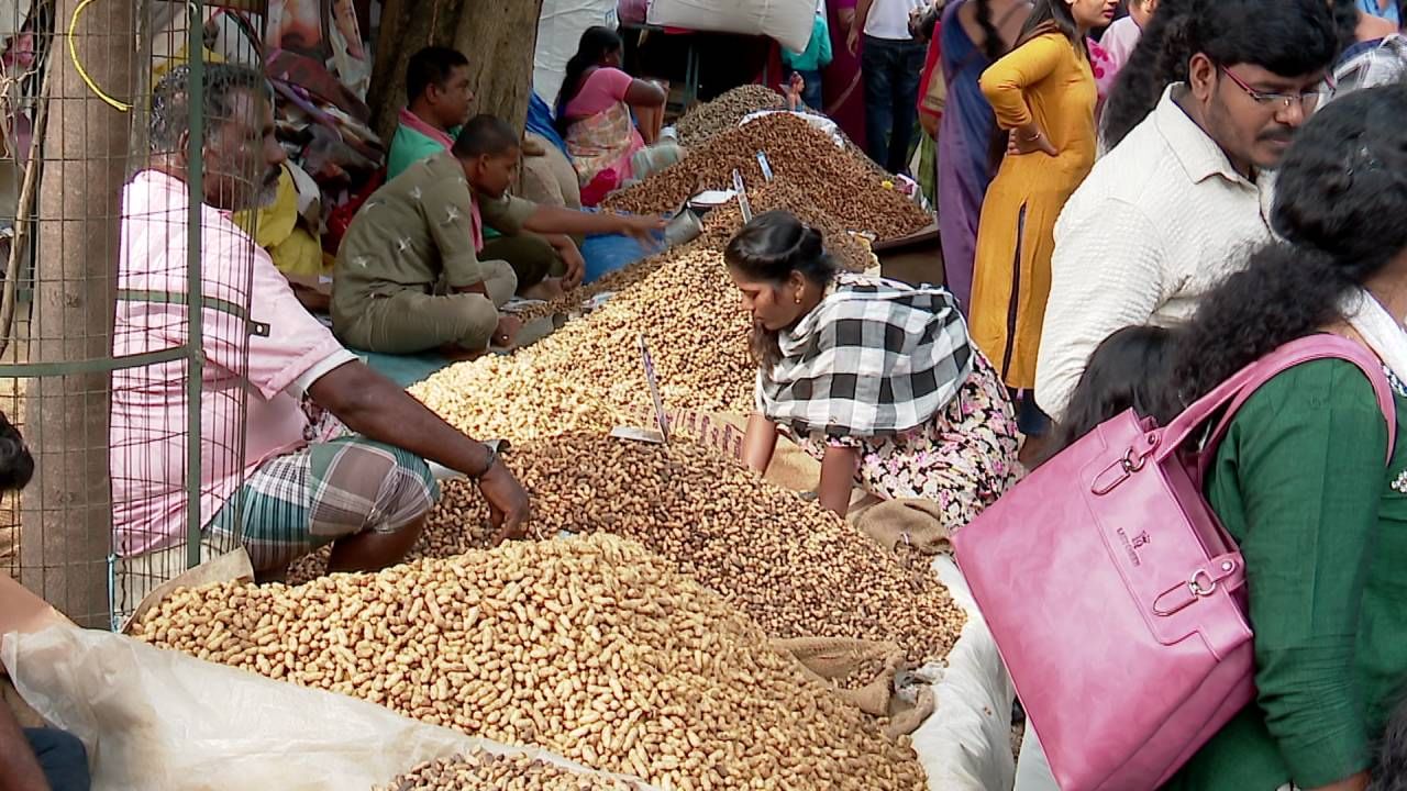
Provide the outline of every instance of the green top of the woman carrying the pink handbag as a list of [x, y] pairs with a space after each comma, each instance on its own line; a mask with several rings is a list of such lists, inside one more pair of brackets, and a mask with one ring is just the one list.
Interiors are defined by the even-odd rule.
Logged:
[[1258, 698], [1165, 788], [1317, 788], [1369, 767], [1407, 680], [1407, 443], [1384, 469], [1386, 452], [1344, 360], [1296, 366], [1237, 414], [1207, 497], [1245, 555]]

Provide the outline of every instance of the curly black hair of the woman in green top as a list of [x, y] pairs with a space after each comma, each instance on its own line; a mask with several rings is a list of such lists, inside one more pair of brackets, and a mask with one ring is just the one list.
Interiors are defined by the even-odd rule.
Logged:
[[1341, 301], [1407, 252], [1407, 84], [1325, 106], [1285, 155], [1271, 221], [1283, 241], [1213, 290], [1178, 345], [1190, 403], [1275, 348], [1341, 321]]

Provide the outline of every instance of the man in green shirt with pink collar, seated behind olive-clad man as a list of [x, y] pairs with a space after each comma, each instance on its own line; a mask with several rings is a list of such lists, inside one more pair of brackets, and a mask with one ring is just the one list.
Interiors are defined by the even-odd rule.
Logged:
[[[447, 151], [469, 121], [474, 93], [469, 86], [469, 58], [446, 46], [426, 46], [405, 68], [401, 122], [391, 138], [386, 177], [395, 179], [411, 165]], [[488, 221], [483, 228], [485, 259], [502, 260], [518, 277], [518, 294], [549, 300], [575, 289], [585, 273], [577, 243], [564, 234], [502, 234]]]

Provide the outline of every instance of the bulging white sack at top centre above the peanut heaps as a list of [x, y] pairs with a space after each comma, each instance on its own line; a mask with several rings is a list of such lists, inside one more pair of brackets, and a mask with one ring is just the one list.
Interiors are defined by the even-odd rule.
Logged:
[[816, 21], [816, 0], [651, 0], [651, 25], [770, 35], [802, 52]]

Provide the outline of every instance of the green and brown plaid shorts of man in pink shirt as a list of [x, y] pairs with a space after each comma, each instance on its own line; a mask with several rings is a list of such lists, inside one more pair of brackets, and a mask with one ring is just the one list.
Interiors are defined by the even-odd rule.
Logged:
[[210, 529], [238, 533], [255, 569], [279, 570], [343, 536], [395, 532], [438, 498], [439, 487], [419, 456], [343, 436], [266, 460]]

